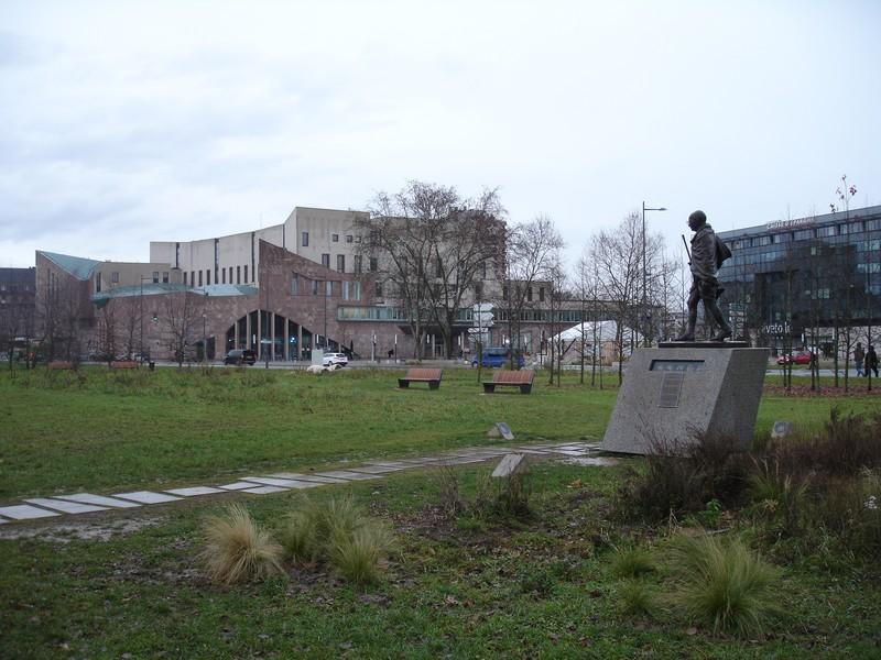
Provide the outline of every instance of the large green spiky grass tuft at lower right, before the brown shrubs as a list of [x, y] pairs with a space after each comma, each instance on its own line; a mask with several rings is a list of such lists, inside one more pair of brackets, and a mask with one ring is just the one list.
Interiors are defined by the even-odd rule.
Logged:
[[758, 635], [775, 612], [771, 587], [777, 572], [739, 539], [718, 536], [674, 541], [678, 588], [672, 601], [714, 632]]

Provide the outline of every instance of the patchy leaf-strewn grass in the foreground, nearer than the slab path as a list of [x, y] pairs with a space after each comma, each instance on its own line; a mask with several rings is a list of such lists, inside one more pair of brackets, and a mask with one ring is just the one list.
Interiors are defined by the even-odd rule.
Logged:
[[[461, 470], [466, 497], [482, 469]], [[605, 502], [620, 469], [539, 464], [536, 516], [516, 528], [464, 530], [434, 516], [437, 483], [425, 473], [313, 491], [341, 491], [395, 528], [400, 553], [380, 582], [357, 587], [294, 570], [236, 586], [208, 580], [196, 549], [217, 501], [167, 507], [157, 524], [109, 541], [0, 541], [4, 658], [850, 658], [877, 657], [877, 578], [828, 575], [794, 563], [775, 598], [792, 620], [738, 645], [657, 613], [644, 594], [622, 613]], [[580, 488], [567, 487], [576, 480]], [[298, 501], [249, 501], [276, 530]], [[649, 591], [652, 591], [651, 585]], [[637, 620], [634, 622], [634, 616]]]

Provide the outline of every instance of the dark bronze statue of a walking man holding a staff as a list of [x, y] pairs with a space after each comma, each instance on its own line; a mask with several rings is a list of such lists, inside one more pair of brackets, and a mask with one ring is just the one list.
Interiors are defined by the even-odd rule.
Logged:
[[707, 215], [695, 211], [688, 216], [688, 227], [695, 235], [692, 237], [692, 252], [688, 265], [692, 267], [692, 290], [688, 293], [688, 328], [675, 341], [694, 341], [695, 324], [697, 323], [697, 301], [704, 301], [704, 312], [713, 317], [719, 331], [710, 341], [725, 341], [731, 337], [731, 326], [722, 316], [716, 300], [721, 295], [719, 280], [716, 273], [722, 262], [731, 256], [731, 251], [726, 248], [713, 228], [707, 224]]

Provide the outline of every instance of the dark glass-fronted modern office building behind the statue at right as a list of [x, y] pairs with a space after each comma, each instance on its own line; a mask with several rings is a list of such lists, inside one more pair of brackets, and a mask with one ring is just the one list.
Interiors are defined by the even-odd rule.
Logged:
[[881, 323], [881, 206], [718, 235], [732, 253], [719, 280], [737, 337], [829, 353]]

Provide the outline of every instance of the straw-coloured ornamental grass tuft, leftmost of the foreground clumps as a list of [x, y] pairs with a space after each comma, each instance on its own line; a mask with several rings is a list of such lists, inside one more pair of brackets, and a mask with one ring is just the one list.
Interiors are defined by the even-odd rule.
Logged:
[[282, 548], [258, 527], [240, 504], [230, 505], [226, 516], [213, 516], [205, 525], [202, 557], [215, 582], [235, 584], [284, 573]]

